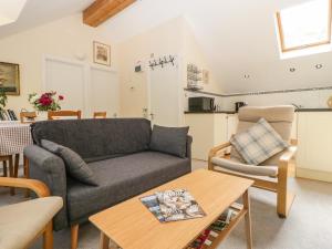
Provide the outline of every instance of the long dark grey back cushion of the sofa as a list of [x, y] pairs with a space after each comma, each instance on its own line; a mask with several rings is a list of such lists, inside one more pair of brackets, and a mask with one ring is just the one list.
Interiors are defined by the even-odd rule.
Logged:
[[144, 118], [59, 120], [37, 122], [32, 137], [52, 141], [93, 162], [148, 149], [151, 122]]

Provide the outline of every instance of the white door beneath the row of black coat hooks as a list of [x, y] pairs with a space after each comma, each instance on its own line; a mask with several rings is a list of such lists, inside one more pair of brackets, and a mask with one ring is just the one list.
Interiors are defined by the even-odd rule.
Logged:
[[148, 70], [149, 115], [153, 124], [178, 126], [180, 124], [180, 74], [175, 64], [164, 64]]

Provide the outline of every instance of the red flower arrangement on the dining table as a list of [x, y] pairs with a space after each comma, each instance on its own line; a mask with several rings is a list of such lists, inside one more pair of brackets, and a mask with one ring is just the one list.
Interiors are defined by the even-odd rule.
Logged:
[[46, 92], [41, 95], [37, 93], [29, 94], [29, 103], [40, 112], [61, 110], [60, 102], [63, 100], [62, 95], [56, 96], [56, 92]]

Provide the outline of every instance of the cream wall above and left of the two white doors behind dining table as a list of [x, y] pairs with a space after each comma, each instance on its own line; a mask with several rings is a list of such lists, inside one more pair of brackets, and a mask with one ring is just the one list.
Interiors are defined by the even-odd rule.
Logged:
[[[93, 41], [112, 45], [112, 66], [117, 65], [116, 45], [103, 28], [84, 25], [81, 14], [68, 17], [0, 40], [0, 59], [20, 64], [21, 94], [9, 96], [8, 108], [31, 110], [28, 94], [43, 91], [43, 55], [93, 61]], [[66, 100], [70, 101], [70, 100]]]

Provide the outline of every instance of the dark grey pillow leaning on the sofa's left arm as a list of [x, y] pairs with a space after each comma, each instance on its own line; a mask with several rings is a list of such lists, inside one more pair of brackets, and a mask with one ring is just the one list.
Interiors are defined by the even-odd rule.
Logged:
[[68, 147], [45, 139], [41, 141], [41, 146], [60, 156], [64, 160], [66, 172], [70, 176], [84, 184], [93, 186], [98, 185], [93, 172], [77, 153]]

